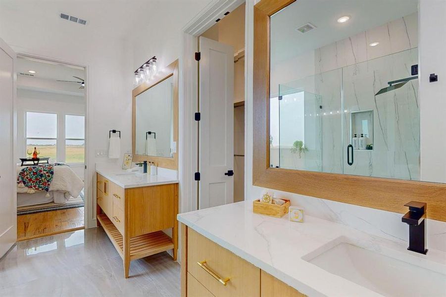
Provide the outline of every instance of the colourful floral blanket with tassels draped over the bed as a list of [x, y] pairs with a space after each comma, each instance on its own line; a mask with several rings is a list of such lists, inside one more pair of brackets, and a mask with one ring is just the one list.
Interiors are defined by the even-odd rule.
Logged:
[[53, 164], [28, 166], [17, 175], [17, 184], [23, 184], [33, 190], [48, 192], [53, 176]]

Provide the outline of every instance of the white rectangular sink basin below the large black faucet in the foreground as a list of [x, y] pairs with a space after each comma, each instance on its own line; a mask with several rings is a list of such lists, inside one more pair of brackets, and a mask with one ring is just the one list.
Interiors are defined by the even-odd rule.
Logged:
[[422, 267], [415, 263], [425, 261], [409, 251], [390, 253], [393, 256], [355, 246], [341, 237], [302, 259], [384, 296], [446, 296], [445, 265]]

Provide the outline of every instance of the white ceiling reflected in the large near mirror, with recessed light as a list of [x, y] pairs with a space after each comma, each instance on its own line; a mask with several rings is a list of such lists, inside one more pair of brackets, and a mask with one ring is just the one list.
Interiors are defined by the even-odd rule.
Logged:
[[[271, 17], [271, 62], [345, 39], [417, 11], [418, 0], [297, 0]], [[350, 16], [338, 23], [341, 16]], [[300, 33], [311, 23], [317, 28]]]

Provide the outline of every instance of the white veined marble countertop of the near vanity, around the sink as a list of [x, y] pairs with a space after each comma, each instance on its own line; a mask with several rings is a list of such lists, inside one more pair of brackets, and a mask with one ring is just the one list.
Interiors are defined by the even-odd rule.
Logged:
[[[426, 266], [446, 264], [445, 253], [407, 251], [407, 243], [369, 235], [342, 224], [305, 216], [304, 223], [254, 214], [242, 201], [178, 214], [178, 220], [204, 237], [308, 296], [382, 296], [302, 259], [340, 237], [387, 254], [415, 259]], [[438, 266], [437, 266], [438, 267]]]

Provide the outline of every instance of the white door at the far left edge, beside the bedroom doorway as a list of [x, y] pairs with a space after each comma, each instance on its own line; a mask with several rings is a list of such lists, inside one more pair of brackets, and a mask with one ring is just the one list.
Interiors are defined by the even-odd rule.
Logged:
[[0, 39], [0, 257], [17, 240], [17, 197], [14, 159], [16, 55]]

